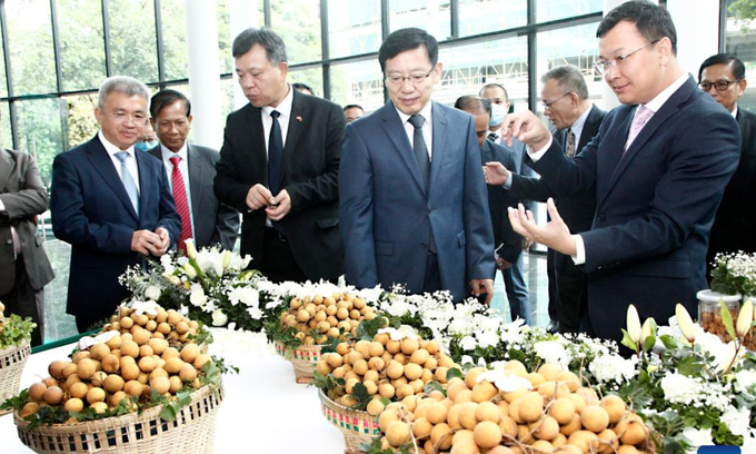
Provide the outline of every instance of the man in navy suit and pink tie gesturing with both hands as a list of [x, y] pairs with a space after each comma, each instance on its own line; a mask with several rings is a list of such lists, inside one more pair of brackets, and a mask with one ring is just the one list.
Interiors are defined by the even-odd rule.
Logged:
[[[549, 201], [551, 221], [510, 210], [516, 231], [570, 255], [588, 274], [589, 334], [619, 340], [628, 305], [664, 323], [682, 303], [695, 313], [706, 288], [708, 234], [737, 166], [733, 117], [680, 68], [669, 13], [629, 1], [599, 23], [597, 70], [623, 106], [574, 159], [533, 112], [505, 120], [528, 144], [527, 160], [559, 197], [596, 191], [590, 230], [573, 235]], [[695, 128], [692, 127], [695, 125]], [[500, 176], [487, 168], [493, 182]], [[503, 177], [501, 180], [505, 180]], [[499, 181], [505, 182], [505, 181]]]

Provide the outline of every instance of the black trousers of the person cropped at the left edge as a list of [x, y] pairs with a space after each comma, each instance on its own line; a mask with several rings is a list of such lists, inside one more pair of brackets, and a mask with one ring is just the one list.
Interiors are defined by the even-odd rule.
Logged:
[[23, 255], [16, 258], [16, 279], [13, 288], [6, 294], [0, 295], [0, 302], [6, 305], [4, 315], [19, 315], [21, 318], [31, 317], [37, 324], [37, 327], [31, 333], [31, 346], [42, 345], [44, 336], [44, 293], [43, 290], [34, 292], [29, 283], [29, 275], [27, 275], [27, 266], [23, 261]]

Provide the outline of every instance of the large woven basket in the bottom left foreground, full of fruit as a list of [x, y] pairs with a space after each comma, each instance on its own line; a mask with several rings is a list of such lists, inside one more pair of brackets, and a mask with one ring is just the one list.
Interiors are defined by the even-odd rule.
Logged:
[[27, 430], [29, 422], [13, 415], [19, 438], [38, 453], [209, 454], [212, 453], [216, 414], [223, 399], [222, 385], [205, 386], [168, 423], [162, 406], [76, 424]]

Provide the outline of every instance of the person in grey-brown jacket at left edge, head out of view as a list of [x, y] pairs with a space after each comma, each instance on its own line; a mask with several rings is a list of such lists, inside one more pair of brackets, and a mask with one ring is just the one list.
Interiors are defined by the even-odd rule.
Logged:
[[47, 210], [47, 189], [34, 158], [0, 149], [0, 302], [4, 315], [31, 317], [31, 345], [44, 336], [43, 287], [54, 278], [37, 233], [37, 216]]

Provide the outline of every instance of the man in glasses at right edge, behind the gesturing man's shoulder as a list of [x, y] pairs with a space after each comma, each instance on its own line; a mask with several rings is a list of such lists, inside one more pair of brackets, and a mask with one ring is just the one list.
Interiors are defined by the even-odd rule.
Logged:
[[712, 226], [706, 277], [717, 253], [756, 253], [756, 115], [738, 107], [748, 82], [743, 61], [727, 53], [707, 58], [698, 70], [698, 86], [735, 117], [740, 128], [740, 161], [727, 184]]

